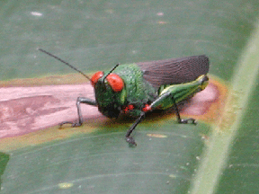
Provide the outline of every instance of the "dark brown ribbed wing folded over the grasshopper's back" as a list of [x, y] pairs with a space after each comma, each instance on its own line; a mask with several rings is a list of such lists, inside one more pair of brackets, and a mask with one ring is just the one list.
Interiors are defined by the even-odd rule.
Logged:
[[171, 58], [137, 63], [144, 79], [159, 88], [163, 84], [182, 84], [194, 81], [209, 72], [209, 58], [205, 55]]

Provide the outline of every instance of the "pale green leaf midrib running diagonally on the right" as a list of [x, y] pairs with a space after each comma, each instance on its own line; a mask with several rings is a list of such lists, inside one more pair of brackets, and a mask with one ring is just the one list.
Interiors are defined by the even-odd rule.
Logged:
[[[258, 22], [257, 22], [258, 24]], [[255, 27], [232, 77], [231, 91], [221, 118], [212, 129], [210, 144], [203, 154], [202, 163], [193, 179], [192, 194], [217, 191], [220, 175], [228, 162], [231, 145], [246, 112], [249, 96], [253, 93], [259, 72], [259, 25]], [[228, 64], [226, 64], [228, 66]]]

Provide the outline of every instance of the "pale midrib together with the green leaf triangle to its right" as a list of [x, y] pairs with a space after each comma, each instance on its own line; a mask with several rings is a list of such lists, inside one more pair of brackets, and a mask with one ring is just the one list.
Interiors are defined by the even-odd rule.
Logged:
[[[257, 84], [259, 79], [258, 42], [259, 28], [252, 34], [237, 64], [225, 109], [219, 124], [213, 129], [212, 141], [204, 154], [206, 160], [201, 163], [201, 170], [193, 184], [193, 193], [213, 193], [216, 190], [218, 193], [226, 190], [232, 190], [234, 193], [253, 193], [259, 189], [255, 181], [259, 175], [257, 171], [259, 166], [256, 163], [258, 159], [258, 144], [256, 143], [256, 138], [258, 138], [256, 137], [259, 86]], [[247, 119], [247, 115], [251, 119]], [[247, 124], [250, 124], [250, 128], [247, 128]], [[250, 132], [249, 140], [246, 139], [248, 131]], [[244, 153], [243, 149], [250, 155], [244, 157], [247, 153]]]

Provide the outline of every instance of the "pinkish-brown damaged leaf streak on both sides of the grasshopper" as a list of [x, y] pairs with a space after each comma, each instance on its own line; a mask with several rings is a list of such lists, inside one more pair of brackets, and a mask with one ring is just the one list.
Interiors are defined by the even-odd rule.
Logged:
[[[201, 93], [197, 93], [183, 106], [181, 115], [216, 122], [224, 106], [227, 91], [225, 85], [210, 78], [207, 88]], [[94, 99], [94, 89], [89, 83], [27, 87], [7, 87], [4, 84], [4, 87], [0, 88], [0, 93], [0, 138], [15, 137], [43, 128], [58, 126], [65, 120], [75, 121], [77, 119], [76, 98], [85, 96]], [[100, 122], [100, 119], [103, 120], [104, 116], [98, 112], [96, 107], [85, 104], [81, 107], [86, 122], [93, 123]], [[167, 115], [167, 113], [159, 114], [160, 116], [162, 118], [175, 117], [174, 114]], [[57, 137], [48, 137], [48, 139], [64, 136], [57, 132]]]

